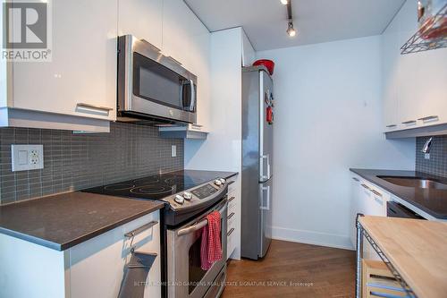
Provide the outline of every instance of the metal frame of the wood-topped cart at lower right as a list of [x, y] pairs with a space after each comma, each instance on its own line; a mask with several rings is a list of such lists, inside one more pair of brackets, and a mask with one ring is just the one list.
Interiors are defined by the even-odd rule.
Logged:
[[[360, 215], [359, 215], [360, 216]], [[392, 272], [392, 275], [396, 278], [396, 280], [401, 284], [401, 287], [405, 290], [407, 293], [407, 297], [411, 298], [417, 298], [417, 295], [413, 292], [413, 290], [409, 287], [407, 282], [401, 277], [401, 274], [392, 266], [392, 263], [388, 258], [384, 255], [384, 252], [380, 249], [380, 247], [375, 243], [374, 239], [371, 238], [369, 234], [367, 234], [367, 231], [361, 226], [361, 224], [358, 222], [358, 218], [356, 220], [356, 226], [357, 226], [357, 235], [358, 235], [358, 247], [357, 247], [357, 277], [356, 277], [356, 298], [360, 298], [361, 296], [361, 252], [358, 250], [363, 249], [363, 236], [365, 236], [365, 239], [367, 239], [367, 242], [371, 244], [377, 255], [382, 259], [386, 265]]]

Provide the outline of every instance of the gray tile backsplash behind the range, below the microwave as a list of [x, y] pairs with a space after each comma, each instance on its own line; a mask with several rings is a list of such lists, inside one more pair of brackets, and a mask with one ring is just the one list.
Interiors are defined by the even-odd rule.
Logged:
[[[43, 144], [44, 168], [11, 171], [11, 144]], [[171, 157], [171, 146], [177, 157]], [[183, 169], [183, 140], [156, 127], [111, 123], [110, 133], [0, 128], [0, 204]]]

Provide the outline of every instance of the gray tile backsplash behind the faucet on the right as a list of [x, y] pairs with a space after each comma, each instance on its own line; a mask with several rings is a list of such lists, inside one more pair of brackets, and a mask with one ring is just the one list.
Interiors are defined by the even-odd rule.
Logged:
[[419, 137], [416, 139], [416, 170], [447, 177], [447, 135], [433, 137], [430, 159], [424, 158], [424, 153], [421, 152], [428, 138]]

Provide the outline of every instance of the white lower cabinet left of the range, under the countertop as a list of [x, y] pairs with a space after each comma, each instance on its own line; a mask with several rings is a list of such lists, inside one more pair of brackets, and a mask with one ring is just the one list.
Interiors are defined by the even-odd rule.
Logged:
[[[0, 234], [0, 297], [116, 298], [131, 243], [135, 251], [156, 254], [141, 286], [146, 298], [161, 297], [159, 218], [153, 212], [65, 251]], [[142, 226], [133, 242], [125, 236]]]

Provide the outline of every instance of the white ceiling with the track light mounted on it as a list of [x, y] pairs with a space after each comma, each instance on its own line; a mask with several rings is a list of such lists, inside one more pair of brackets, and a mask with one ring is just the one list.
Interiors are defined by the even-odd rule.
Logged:
[[257, 51], [381, 34], [405, 0], [291, 0], [289, 38], [280, 0], [184, 0], [208, 30], [242, 26]]

